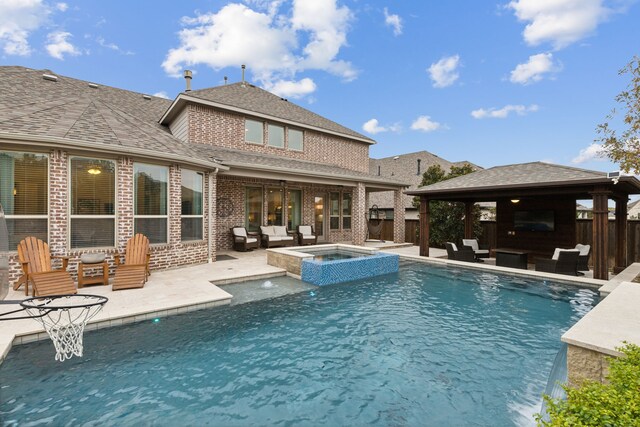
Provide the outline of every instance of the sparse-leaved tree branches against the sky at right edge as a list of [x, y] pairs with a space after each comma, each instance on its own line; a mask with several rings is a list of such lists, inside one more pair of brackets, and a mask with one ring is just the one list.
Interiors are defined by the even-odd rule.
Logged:
[[631, 81], [616, 96], [616, 102], [622, 104], [625, 110], [624, 126], [627, 128], [621, 133], [609, 123], [616, 116], [616, 110], [612, 110], [607, 116], [607, 121], [598, 125], [596, 132], [600, 135], [596, 142], [602, 143], [604, 153], [613, 162], [620, 164], [623, 172], [640, 173], [640, 57], [633, 59], [618, 74], [630, 74]]

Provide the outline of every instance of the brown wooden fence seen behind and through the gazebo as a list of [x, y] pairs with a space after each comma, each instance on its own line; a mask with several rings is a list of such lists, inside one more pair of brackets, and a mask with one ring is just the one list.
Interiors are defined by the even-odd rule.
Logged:
[[[404, 223], [404, 241], [418, 245], [419, 221], [407, 219]], [[615, 221], [609, 221], [609, 265], [613, 266], [616, 239]], [[592, 245], [593, 224], [590, 219], [576, 220], [576, 242]], [[482, 221], [482, 235], [480, 243], [496, 247], [497, 227], [495, 221]], [[393, 220], [385, 220], [382, 225], [382, 239], [393, 241]], [[627, 260], [630, 263], [640, 262], [640, 220], [627, 221]]]

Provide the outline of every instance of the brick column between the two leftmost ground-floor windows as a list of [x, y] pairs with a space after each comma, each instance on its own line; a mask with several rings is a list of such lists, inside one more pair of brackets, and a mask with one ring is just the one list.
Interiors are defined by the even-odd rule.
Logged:
[[69, 156], [51, 150], [49, 156], [49, 248], [52, 254], [64, 255], [69, 245], [68, 208]]

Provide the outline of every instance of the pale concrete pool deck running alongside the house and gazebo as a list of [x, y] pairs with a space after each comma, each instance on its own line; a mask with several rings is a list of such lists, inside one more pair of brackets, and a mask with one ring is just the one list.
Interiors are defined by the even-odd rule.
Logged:
[[[571, 277], [496, 267], [491, 265], [491, 262], [476, 264], [449, 261], [446, 259], [446, 251], [443, 249], [431, 248], [430, 256], [427, 258], [418, 255], [417, 246], [375, 243], [367, 244], [367, 246], [399, 254], [404, 260], [460, 265], [466, 268], [528, 277], [553, 278], [564, 283], [590, 288], [600, 288], [608, 283], [584, 276]], [[285, 274], [284, 269], [267, 264], [265, 250], [260, 249], [245, 253], [221, 252], [218, 254], [218, 261], [211, 264], [154, 271], [145, 287], [141, 289], [113, 292], [110, 285], [90, 286], [80, 289], [79, 293], [103, 295], [109, 298], [109, 302], [103, 310], [87, 326], [86, 330], [90, 331], [229, 304], [232, 295], [224, 290], [223, 285], [254, 279], [267, 279]], [[613, 287], [613, 285], [609, 286]], [[640, 286], [638, 288], [640, 289]], [[22, 300], [24, 298], [22, 289], [19, 291], [10, 289], [6, 299]], [[636, 304], [635, 307], [637, 306]], [[15, 308], [17, 308], [16, 305], [0, 305], [0, 313]], [[0, 363], [13, 345], [26, 344], [41, 339], [49, 338], [40, 324], [32, 319], [0, 322]]]

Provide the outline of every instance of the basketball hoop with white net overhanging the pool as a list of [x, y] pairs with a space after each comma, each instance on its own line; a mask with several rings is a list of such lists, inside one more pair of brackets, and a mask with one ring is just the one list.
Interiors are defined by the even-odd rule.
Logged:
[[108, 301], [100, 295], [49, 295], [27, 298], [19, 310], [0, 316], [26, 311], [28, 316], [0, 320], [32, 318], [42, 324], [53, 341], [56, 360], [63, 362], [73, 356], [82, 357], [84, 327]]

